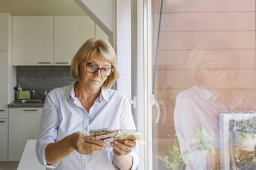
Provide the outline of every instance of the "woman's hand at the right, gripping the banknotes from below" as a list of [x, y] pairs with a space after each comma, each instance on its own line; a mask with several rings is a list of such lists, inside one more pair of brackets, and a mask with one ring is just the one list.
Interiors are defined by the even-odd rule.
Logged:
[[136, 147], [136, 141], [131, 139], [125, 139], [125, 141], [114, 141], [111, 143], [113, 147], [113, 153], [116, 156], [125, 156], [131, 153], [132, 149]]

